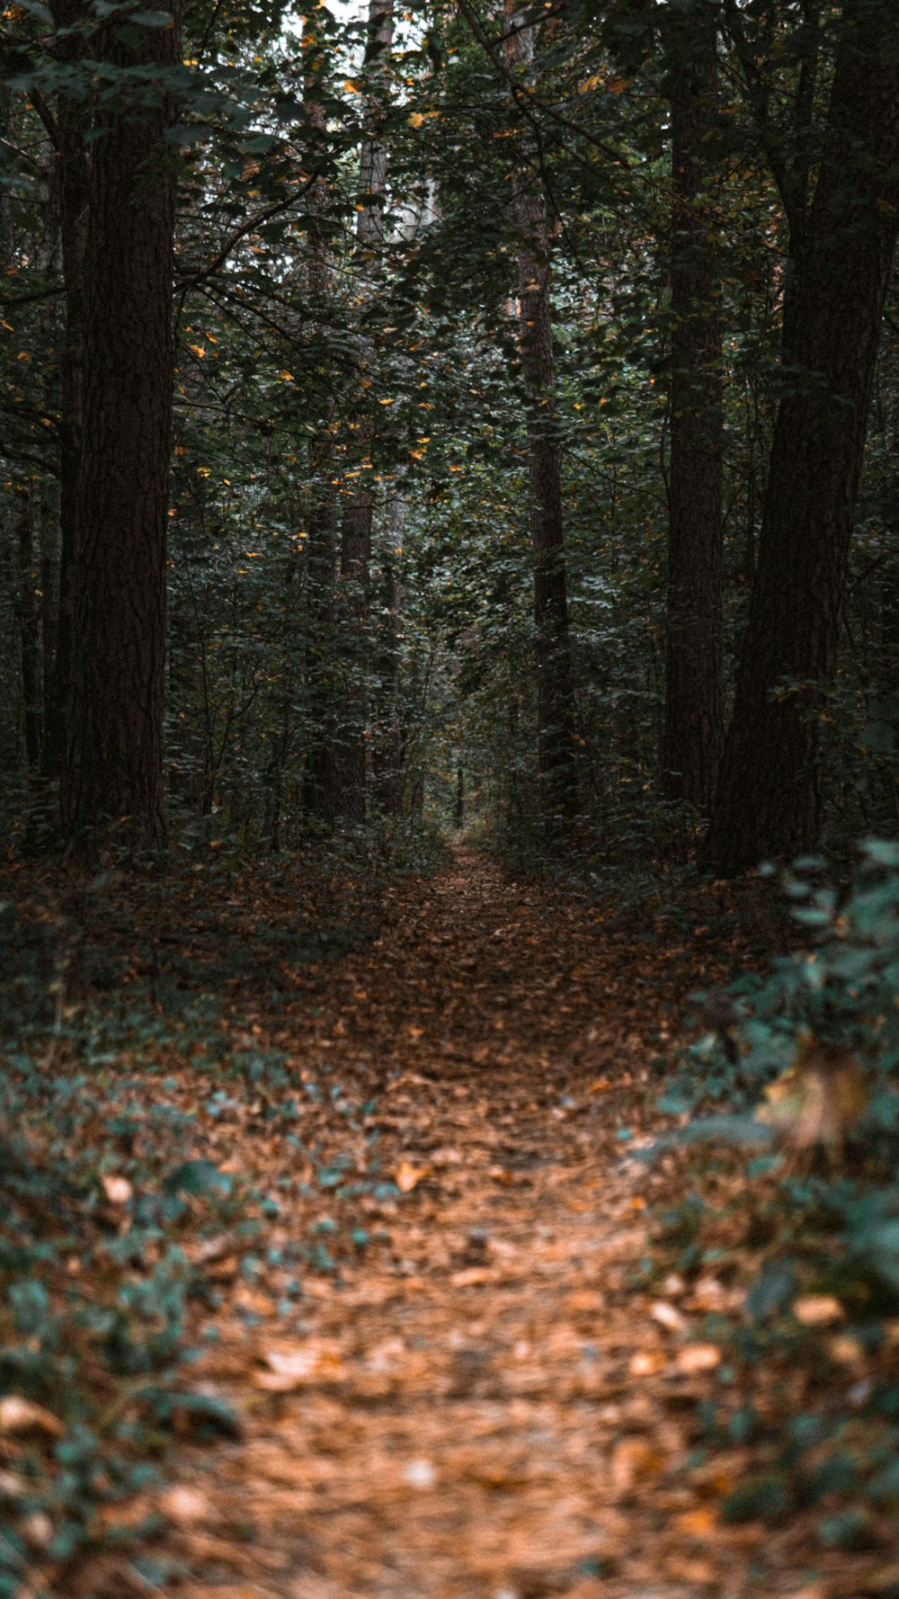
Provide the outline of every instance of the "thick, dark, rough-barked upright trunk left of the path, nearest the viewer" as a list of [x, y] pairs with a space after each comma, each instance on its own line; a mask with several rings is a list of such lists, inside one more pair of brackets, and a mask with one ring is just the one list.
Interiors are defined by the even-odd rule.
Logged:
[[[170, 27], [107, 22], [106, 59], [147, 69], [152, 85], [154, 69], [181, 61], [179, 16]], [[102, 109], [91, 158], [61, 811], [70, 839], [126, 822], [131, 841], [158, 847], [174, 152], [158, 90], [147, 104], [126, 83]]]

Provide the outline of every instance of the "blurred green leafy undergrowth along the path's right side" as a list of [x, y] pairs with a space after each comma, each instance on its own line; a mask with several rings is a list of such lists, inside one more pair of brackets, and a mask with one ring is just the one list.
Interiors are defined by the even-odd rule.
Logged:
[[718, 1170], [675, 1158], [689, 1191], [657, 1233], [670, 1316], [699, 1281], [726, 1374], [702, 1418], [725, 1471], [741, 1450], [721, 1514], [867, 1553], [865, 1594], [899, 1594], [897, 867], [872, 843], [841, 895], [819, 862], [789, 876], [811, 947], [712, 996], [723, 1036], [661, 1102], [728, 1111], [683, 1127]]

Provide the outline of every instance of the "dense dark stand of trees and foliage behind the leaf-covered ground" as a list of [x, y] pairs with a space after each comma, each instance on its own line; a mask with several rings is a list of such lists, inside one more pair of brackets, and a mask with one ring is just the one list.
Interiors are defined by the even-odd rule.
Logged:
[[72, 843], [275, 849], [459, 764], [717, 871], [891, 815], [894, 6], [285, 26], [0, 62], [13, 825], [27, 769]]

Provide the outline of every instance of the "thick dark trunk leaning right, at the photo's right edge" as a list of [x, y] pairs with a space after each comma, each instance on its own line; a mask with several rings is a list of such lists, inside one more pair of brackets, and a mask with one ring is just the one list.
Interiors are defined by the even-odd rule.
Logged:
[[784, 393], [705, 844], [709, 863], [721, 873], [813, 849], [821, 828], [822, 688], [837, 670], [899, 225], [896, 18], [891, 6], [854, 0], [840, 26], [817, 185], [785, 285]]

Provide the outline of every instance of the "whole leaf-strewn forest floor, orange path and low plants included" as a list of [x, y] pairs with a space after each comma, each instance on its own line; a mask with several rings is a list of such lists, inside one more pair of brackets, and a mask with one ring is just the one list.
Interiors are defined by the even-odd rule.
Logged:
[[888, 1594], [891, 1310], [827, 1209], [888, 1185], [659, 1150], [790, 1059], [744, 983], [659, 1124], [758, 894], [10, 873], [5, 1591]]

